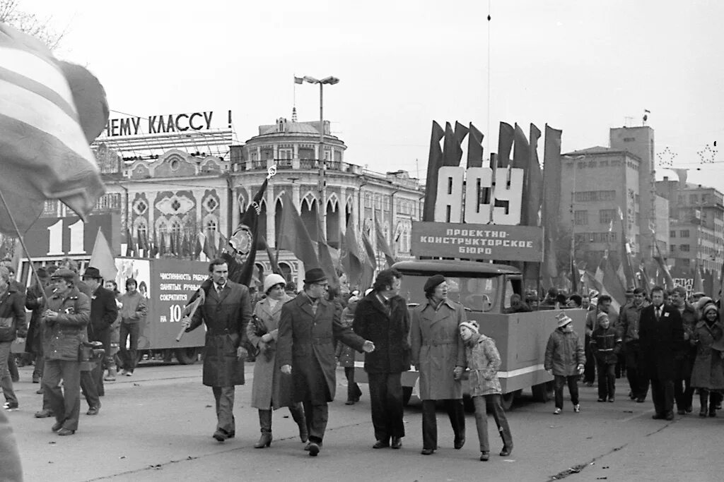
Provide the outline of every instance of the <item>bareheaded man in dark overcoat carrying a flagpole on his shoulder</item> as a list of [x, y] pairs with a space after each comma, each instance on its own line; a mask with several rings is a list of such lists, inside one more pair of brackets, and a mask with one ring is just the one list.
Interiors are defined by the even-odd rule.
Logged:
[[214, 439], [224, 442], [236, 434], [234, 420], [235, 385], [244, 384], [243, 348], [246, 324], [251, 319], [251, 302], [246, 286], [228, 279], [229, 267], [223, 259], [209, 264], [211, 283], [193, 319], [185, 318], [187, 332], [206, 323], [206, 356], [203, 358], [203, 384], [211, 387], [216, 399]]

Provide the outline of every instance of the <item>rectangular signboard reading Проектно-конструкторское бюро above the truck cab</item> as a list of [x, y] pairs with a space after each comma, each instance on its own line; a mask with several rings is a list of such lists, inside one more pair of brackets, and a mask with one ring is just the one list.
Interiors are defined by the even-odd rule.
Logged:
[[541, 262], [543, 230], [536, 226], [412, 223], [416, 257]]

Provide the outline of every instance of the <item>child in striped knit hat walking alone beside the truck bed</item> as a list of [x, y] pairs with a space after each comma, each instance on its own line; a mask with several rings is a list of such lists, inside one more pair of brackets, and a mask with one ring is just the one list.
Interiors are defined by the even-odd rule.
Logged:
[[554, 414], [559, 415], [563, 410], [563, 385], [568, 384], [568, 392], [571, 394], [573, 411], [581, 411], [578, 403], [578, 377], [584, 372], [586, 356], [584, 345], [578, 334], [573, 331], [571, 322], [563, 311], [556, 317], [558, 327], [548, 338], [545, 348], [544, 369], [553, 375], [555, 386], [555, 410]]

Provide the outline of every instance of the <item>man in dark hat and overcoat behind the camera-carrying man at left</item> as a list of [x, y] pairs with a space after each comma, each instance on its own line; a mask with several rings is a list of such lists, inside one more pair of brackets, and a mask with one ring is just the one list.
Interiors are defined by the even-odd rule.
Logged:
[[[88, 341], [103, 343], [107, 355], [111, 353], [111, 324], [114, 324], [118, 317], [116, 297], [113, 291], [104, 288], [103, 277], [96, 267], [85, 268], [83, 281], [90, 288]], [[88, 400], [88, 415], [98, 415], [98, 410], [101, 408], [101, 400], [98, 400], [98, 397], [102, 397], [106, 393], [103, 386], [104, 361], [106, 360], [107, 358], [104, 356], [100, 360], [92, 361], [93, 369], [80, 374], [80, 390], [85, 393], [85, 400]], [[94, 394], [97, 396], [93, 397]]]

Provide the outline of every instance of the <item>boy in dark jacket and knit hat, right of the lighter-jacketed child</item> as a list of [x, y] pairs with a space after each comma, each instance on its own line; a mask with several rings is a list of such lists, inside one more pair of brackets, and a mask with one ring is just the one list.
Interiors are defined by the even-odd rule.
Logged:
[[613, 402], [616, 389], [615, 368], [621, 350], [621, 337], [604, 312], [599, 312], [596, 322], [596, 330], [591, 335], [591, 351], [596, 357], [598, 401]]

